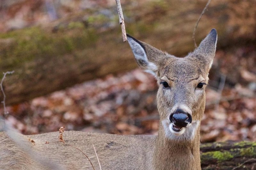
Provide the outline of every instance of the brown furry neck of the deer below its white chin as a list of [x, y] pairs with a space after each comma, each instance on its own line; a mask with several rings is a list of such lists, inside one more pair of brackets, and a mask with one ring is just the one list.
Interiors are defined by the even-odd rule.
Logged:
[[201, 169], [200, 125], [191, 140], [175, 140], [165, 135], [160, 121], [159, 133], [153, 152], [152, 164], [155, 169]]

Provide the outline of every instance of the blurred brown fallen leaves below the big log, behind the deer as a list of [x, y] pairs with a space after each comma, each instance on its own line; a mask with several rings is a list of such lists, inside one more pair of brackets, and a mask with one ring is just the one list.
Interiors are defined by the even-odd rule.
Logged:
[[[22, 118], [16, 120], [11, 115], [8, 119], [15, 128], [27, 134], [60, 129], [59, 140], [62, 143], [65, 142], [64, 129], [60, 128], [63, 124], [68, 130], [83, 126], [84, 131], [89, 132], [157, 134], [156, 89], [154, 78], [137, 69], [33, 99], [30, 105], [26, 103], [7, 108], [10, 114], [17, 112], [16, 117], [24, 112], [33, 112], [33, 117], [28, 117], [33, 124], [25, 126]], [[253, 91], [248, 91], [244, 85], [226, 86], [219, 109], [215, 110], [219, 93], [208, 86], [206, 111], [201, 123], [202, 142], [256, 140], [256, 99], [252, 96]]]

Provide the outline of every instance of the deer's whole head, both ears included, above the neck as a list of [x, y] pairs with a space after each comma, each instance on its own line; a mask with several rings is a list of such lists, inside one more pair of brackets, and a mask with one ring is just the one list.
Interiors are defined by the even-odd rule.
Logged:
[[216, 30], [212, 29], [199, 47], [184, 58], [162, 52], [130, 35], [128, 42], [138, 65], [157, 79], [157, 107], [166, 136], [191, 139], [203, 117]]

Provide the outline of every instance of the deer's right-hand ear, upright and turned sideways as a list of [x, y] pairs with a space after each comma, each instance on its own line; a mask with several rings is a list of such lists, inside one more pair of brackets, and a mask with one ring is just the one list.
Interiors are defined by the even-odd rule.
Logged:
[[213, 28], [211, 32], [200, 43], [199, 47], [194, 51], [196, 57], [201, 62], [203, 62], [204, 66], [206, 66], [207, 73], [209, 72], [212, 66], [212, 61], [216, 51], [216, 43], [217, 31]]

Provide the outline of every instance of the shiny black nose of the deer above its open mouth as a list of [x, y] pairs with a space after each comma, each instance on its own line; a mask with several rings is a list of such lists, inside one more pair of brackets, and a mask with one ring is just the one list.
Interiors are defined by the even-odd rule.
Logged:
[[170, 115], [170, 121], [178, 127], [186, 127], [188, 123], [192, 122], [192, 117], [190, 114], [177, 109], [174, 113]]

